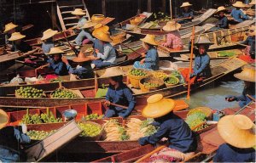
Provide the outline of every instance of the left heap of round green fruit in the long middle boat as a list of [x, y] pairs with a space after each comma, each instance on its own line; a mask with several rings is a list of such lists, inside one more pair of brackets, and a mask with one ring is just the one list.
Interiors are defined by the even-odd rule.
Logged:
[[34, 87], [20, 87], [15, 91], [22, 98], [43, 98], [44, 91]]

